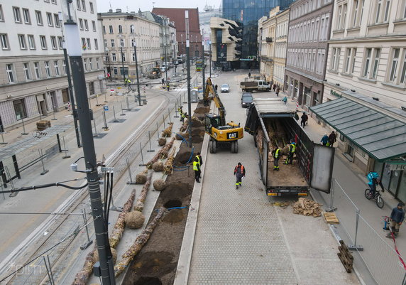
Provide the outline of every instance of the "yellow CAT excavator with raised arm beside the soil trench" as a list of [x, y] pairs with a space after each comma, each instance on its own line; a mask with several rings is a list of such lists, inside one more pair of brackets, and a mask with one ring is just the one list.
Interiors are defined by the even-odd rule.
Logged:
[[233, 121], [226, 123], [226, 109], [220, 100], [217, 91], [214, 89], [212, 79], [207, 78], [204, 90], [204, 104], [208, 105], [209, 100], [213, 100], [219, 109], [219, 114], [208, 113], [205, 115], [205, 130], [210, 135], [209, 149], [211, 154], [215, 154], [221, 146], [231, 149], [231, 153], [238, 153], [238, 139], [242, 139], [243, 128]]

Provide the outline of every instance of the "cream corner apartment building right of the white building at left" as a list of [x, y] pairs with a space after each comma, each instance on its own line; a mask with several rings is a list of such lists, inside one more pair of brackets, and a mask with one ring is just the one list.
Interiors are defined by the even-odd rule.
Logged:
[[[145, 76], [160, 64], [160, 24], [136, 12], [109, 10], [99, 13], [104, 35], [104, 65], [111, 78]], [[136, 52], [134, 46], [136, 47]], [[124, 68], [123, 68], [124, 66]]]

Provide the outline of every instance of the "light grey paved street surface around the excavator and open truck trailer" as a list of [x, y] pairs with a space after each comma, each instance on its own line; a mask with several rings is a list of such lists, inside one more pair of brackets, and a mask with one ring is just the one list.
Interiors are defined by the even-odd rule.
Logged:
[[[231, 87], [229, 94], [220, 95], [226, 120], [243, 124], [240, 79], [236, 72], [224, 72], [215, 83]], [[238, 154], [223, 149], [203, 157], [194, 244], [192, 249], [182, 244], [175, 284], [359, 284], [342, 267], [336, 240], [322, 217], [293, 215], [290, 207], [270, 205], [278, 199], [265, 195], [253, 138], [244, 136], [238, 141]], [[233, 170], [238, 162], [247, 174], [236, 190]], [[190, 222], [188, 217], [187, 229]], [[185, 250], [192, 254], [187, 272]], [[180, 279], [182, 274], [185, 279]]]

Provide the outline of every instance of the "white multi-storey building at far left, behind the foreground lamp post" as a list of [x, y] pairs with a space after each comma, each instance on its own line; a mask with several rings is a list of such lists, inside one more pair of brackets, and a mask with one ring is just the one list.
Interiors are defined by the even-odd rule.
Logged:
[[[96, 1], [73, 2], [89, 96], [105, 92], [101, 25]], [[0, 124], [13, 129], [67, 107], [62, 1], [0, 4]], [[69, 50], [68, 50], [69, 53]]]

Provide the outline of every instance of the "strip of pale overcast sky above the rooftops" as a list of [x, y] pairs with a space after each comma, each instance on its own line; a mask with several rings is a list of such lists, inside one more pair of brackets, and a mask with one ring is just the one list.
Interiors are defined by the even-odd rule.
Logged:
[[110, 9], [116, 11], [121, 9], [124, 12], [131, 12], [141, 9], [141, 11], [152, 11], [153, 7], [159, 8], [199, 8], [203, 11], [204, 6], [214, 6], [219, 8], [221, 0], [97, 0], [97, 12], [108, 12]]

